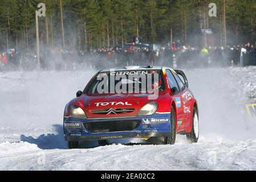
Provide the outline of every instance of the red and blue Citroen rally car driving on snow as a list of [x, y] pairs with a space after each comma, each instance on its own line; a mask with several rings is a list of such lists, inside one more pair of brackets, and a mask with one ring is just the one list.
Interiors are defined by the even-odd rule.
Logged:
[[162, 137], [174, 144], [177, 134], [193, 143], [199, 137], [198, 105], [184, 72], [152, 65], [96, 73], [66, 105], [63, 125], [70, 148], [83, 140]]

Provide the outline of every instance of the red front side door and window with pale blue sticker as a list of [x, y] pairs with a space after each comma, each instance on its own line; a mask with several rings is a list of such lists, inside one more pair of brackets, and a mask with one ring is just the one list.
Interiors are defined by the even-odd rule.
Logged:
[[166, 76], [168, 78], [170, 88], [176, 87], [178, 89], [177, 93], [173, 95], [174, 101], [176, 102], [177, 108], [177, 133], [184, 130], [185, 126], [185, 116], [184, 116], [184, 102], [182, 101], [182, 94], [184, 90], [180, 88], [176, 78], [174, 77], [172, 71], [170, 69], [166, 69]]

